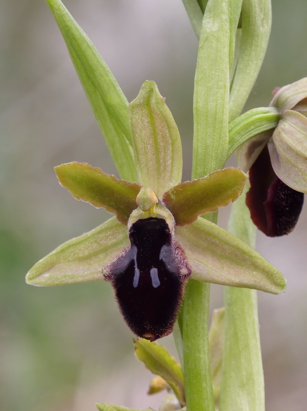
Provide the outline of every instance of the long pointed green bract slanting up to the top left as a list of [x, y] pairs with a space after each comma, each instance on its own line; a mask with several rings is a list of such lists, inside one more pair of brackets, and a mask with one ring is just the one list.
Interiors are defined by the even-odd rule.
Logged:
[[128, 101], [109, 67], [59, 0], [47, 0], [121, 178], [136, 181]]

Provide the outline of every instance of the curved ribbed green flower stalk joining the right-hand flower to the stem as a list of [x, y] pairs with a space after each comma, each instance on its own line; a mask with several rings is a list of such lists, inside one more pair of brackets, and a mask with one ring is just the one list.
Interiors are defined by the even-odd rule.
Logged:
[[229, 144], [227, 156], [251, 138], [277, 127], [280, 115], [275, 107], [258, 107], [241, 114], [229, 123]]

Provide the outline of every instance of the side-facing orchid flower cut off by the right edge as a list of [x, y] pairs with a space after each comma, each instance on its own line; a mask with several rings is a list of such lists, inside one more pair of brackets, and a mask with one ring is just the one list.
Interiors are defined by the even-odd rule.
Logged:
[[274, 237], [296, 226], [307, 193], [307, 78], [280, 88], [270, 103], [278, 109], [276, 128], [237, 150], [238, 163], [250, 176], [246, 202], [254, 224]]

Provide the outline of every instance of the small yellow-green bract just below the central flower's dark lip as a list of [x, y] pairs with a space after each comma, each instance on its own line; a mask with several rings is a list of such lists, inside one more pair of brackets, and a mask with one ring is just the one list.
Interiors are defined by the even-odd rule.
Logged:
[[181, 366], [167, 349], [142, 338], [134, 340], [135, 355], [153, 374], [167, 381], [180, 404], [186, 405]]

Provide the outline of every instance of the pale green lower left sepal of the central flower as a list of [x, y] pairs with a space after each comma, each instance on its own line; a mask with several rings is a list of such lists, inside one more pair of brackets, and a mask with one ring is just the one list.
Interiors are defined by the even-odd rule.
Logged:
[[26, 276], [34, 286], [57, 286], [103, 279], [101, 270], [130, 242], [115, 217], [62, 246], [36, 263]]

